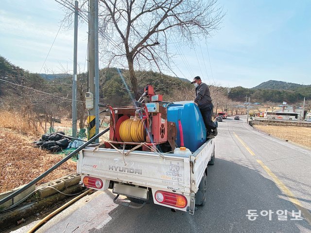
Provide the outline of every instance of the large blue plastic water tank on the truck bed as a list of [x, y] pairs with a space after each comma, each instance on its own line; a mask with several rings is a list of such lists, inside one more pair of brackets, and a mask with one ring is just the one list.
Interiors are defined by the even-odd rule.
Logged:
[[191, 152], [196, 151], [206, 142], [206, 128], [200, 109], [191, 101], [174, 102], [167, 107], [167, 120], [177, 126], [176, 143], [180, 147], [178, 120], [181, 121], [184, 135], [184, 146]]

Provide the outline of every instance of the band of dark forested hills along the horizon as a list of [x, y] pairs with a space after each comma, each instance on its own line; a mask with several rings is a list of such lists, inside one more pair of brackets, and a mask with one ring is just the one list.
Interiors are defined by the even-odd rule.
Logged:
[[[172, 77], [152, 71], [136, 71], [140, 90], [146, 84], [152, 84], [156, 93], [172, 96], [178, 91], [193, 90], [190, 81], [183, 78]], [[125, 69], [109, 68], [100, 71], [100, 95], [105, 103], [114, 106], [123, 106], [130, 103], [130, 81], [128, 71]], [[60, 96], [71, 95], [72, 75], [69, 74], [36, 74], [30, 73], [13, 65], [6, 58], [0, 56], [0, 79], [19, 85], [43, 90]], [[7, 93], [17, 92], [16, 86], [0, 81], [0, 97]], [[21, 89], [24, 90], [24, 89]], [[218, 89], [220, 90], [220, 89]], [[87, 91], [87, 74], [78, 74], [79, 99], [83, 99]], [[177, 91], [177, 92], [176, 92]], [[258, 86], [248, 89], [241, 86], [231, 88], [228, 97], [233, 101], [244, 102], [245, 96], [250, 96], [252, 102], [275, 102], [283, 101], [294, 104], [301, 103], [303, 98], [311, 100], [311, 85], [286, 83], [269, 80]]]

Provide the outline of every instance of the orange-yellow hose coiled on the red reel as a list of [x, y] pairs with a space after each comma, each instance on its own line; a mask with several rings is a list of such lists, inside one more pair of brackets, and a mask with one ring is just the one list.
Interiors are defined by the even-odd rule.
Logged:
[[143, 143], [146, 140], [145, 120], [127, 119], [120, 125], [120, 137], [123, 142]]

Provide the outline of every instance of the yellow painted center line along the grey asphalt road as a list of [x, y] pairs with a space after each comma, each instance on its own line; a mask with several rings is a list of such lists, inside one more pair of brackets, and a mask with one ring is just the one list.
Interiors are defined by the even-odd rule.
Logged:
[[[236, 133], [233, 133], [234, 136], [240, 141], [240, 143], [246, 148], [246, 150], [252, 155], [256, 156], [255, 153], [242, 141], [242, 139], [239, 138], [239, 136]], [[295, 205], [295, 207], [300, 210], [302, 215], [305, 217], [305, 219], [309, 222], [311, 225], [311, 213], [308, 209], [304, 208], [300, 201], [294, 197], [294, 194], [292, 191], [285, 186], [285, 184], [276, 177], [276, 175], [263, 163], [261, 160], [256, 160], [259, 165], [263, 168], [263, 170], [266, 171], [266, 173], [272, 178], [276, 186], [281, 190], [283, 194], [285, 194], [289, 200]]]

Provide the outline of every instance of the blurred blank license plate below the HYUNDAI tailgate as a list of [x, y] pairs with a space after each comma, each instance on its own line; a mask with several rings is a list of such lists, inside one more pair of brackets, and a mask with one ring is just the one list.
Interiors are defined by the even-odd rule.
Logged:
[[112, 193], [147, 200], [148, 190], [146, 188], [114, 183]]

